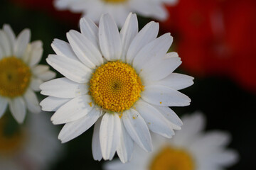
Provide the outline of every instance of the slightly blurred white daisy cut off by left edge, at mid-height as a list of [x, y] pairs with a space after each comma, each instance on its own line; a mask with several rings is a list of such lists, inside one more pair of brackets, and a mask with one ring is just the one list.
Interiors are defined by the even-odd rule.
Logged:
[[41, 108], [34, 91], [43, 81], [53, 79], [49, 67], [38, 65], [43, 53], [40, 40], [29, 42], [31, 31], [24, 29], [16, 38], [9, 25], [0, 30], [0, 118], [9, 105], [18, 123], [23, 123], [28, 111]]

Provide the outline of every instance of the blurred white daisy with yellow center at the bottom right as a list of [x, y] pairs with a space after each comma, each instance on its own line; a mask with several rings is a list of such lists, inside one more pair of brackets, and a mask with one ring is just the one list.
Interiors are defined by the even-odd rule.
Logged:
[[202, 114], [186, 115], [182, 130], [176, 132], [171, 140], [152, 135], [154, 151], [146, 153], [134, 149], [130, 162], [122, 164], [119, 160], [105, 164], [107, 170], [217, 170], [235, 164], [238, 154], [225, 149], [230, 142], [227, 132], [203, 132], [205, 119]]

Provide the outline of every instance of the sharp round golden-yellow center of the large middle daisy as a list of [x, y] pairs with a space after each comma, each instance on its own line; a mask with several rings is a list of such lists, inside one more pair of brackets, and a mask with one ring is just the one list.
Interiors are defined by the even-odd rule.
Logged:
[[122, 113], [132, 107], [143, 90], [135, 70], [123, 62], [107, 62], [90, 79], [90, 95], [98, 106]]

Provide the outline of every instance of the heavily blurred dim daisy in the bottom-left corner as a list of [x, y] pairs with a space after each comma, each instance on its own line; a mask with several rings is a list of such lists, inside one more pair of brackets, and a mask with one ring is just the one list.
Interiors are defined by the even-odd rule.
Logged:
[[10, 133], [6, 130], [10, 129], [9, 118], [0, 119], [1, 169], [48, 169], [60, 157], [63, 148], [55, 138], [54, 127], [47, 120], [46, 114], [31, 114], [26, 125], [18, 126], [18, 130]]

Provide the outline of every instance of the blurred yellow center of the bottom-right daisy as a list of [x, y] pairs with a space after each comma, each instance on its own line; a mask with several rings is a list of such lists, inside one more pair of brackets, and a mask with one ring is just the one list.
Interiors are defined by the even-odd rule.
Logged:
[[149, 166], [150, 170], [194, 170], [193, 159], [188, 152], [165, 147], [156, 157], [153, 158]]

